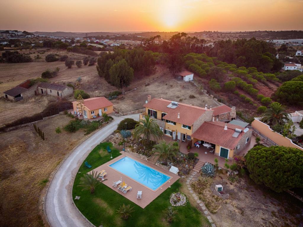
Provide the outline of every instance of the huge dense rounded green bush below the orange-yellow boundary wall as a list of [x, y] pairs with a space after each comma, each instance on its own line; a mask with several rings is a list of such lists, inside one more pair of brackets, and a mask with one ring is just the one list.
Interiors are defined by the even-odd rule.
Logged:
[[245, 156], [249, 177], [275, 192], [303, 187], [303, 153], [284, 146], [255, 146]]

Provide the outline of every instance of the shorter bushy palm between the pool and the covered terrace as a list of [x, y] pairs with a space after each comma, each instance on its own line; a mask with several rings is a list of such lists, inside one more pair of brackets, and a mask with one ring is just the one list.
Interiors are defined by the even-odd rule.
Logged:
[[172, 161], [173, 158], [178, 156], [179, 152], [179, 146], [178, 143], [166, 143], [165, 141], [162, 141], [159, 144], [156, 144], [154, 146], [155, 150], [155, 157], [158, 157], [157, 161], [163, 162], [165, 165], [167, 165], [168, 161]]

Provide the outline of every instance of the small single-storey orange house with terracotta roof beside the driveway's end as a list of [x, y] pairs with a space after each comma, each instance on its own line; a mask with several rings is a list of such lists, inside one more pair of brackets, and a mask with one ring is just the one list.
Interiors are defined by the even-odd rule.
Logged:
[[[76, 113], [81, 113], [81, 106], [78, 101], [74, 101], [73, 109]], [[102, 116], [103, 113], [110, 114], [114, 112], [114, 106], [111, 101], [105, 97], [95, 97], [84, 99], [82, 103], [82, 114], [84, 118], [94, 118], [94, 116]]]

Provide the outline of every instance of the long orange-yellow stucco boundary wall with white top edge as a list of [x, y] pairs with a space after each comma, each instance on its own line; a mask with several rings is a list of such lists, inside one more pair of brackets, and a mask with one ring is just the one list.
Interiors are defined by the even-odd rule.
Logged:
[[288, 139], [287, 137], [283, 137], [281, 134], [274, 132], [273, 130], [270, 129], [270, 127], [267, 124], [261, 122], [258, 119], [255, 119], [251, 123], [251, 126], [254, 129], [258, 130], [265, 137], [268, 137], [270, 140], [274, 141], [279, 146], [289, 146], [303, 150], [302, 147], [292, 143], [291, 139]]

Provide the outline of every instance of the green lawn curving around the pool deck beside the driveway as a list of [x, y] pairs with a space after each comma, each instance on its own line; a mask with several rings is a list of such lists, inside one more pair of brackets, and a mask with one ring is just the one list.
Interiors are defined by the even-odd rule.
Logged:
[[[85, 159], [92, 165], [91, 169], [95, 169], [111, 160], [110, 154], [106, 151], [108, 145], [111, 146], [113, 158], [120, 155], [117, 149], [112, 148], [111, 143], [100, 143]], [[73, 198], [81, 196], [79, 200], [74, 200], [75, 204], [82, 214], [96, 226], [210, 226], [207, 218], [201, 215], [201, 212], [191, 206], [190, 203], [187, 203], [186, 206], [174, 207], [174, 210], [177, 211], [176, 218], [171, 223], [166, 221], [166, 210], [170, 206], [169, 196], [172, 192], [178, 191], [181, 186], [179, 181], [142, 209], [104, 184], [97, 186], [94, 194], [89, 191], [82, 191], [81, 187], [77, 187], [80, 177], [91, 169], [86, 168], [84, 164], [81, 165], [79, 169], [81, 173], [78, 173], [75, 178]], [[135, 207], [135, 212], [132, 212], [132, 217], [129, 217], [128, 220], [121, 219], [116, 213], [116, 209], [123, 203]]]

